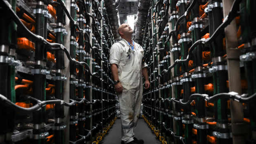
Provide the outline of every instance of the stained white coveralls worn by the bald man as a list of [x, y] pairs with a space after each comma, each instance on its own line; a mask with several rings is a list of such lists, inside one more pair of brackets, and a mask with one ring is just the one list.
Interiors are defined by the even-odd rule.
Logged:
[[127, 54], [128, 50], [128, 42], [122, 39], [112, 45], [109, 54], [110, 64], [118, 66], [119, 81], [123, 86], [123, 92], [118, 97], [122, 141], [125, 144], [133, 141], [142, 101], [142, 68], [147, 66], [146, 63], [142, 64], [144, 51], [139, 44], [135, 43], [134, 52], [130, 53], [130, 56]]

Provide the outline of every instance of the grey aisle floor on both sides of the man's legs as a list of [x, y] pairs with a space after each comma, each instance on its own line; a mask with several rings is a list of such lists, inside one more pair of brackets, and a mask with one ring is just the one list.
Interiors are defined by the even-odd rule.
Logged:
[[[138, 120], [137, 127], [135, 129], [135, 137], [143, 139], [144, 144], [161, 144], [142, 118]], [[120, 119], [116, 119], [116, 122], [109, 130], [108, 134], [104, 137], [102, 144], [121, 144]]]

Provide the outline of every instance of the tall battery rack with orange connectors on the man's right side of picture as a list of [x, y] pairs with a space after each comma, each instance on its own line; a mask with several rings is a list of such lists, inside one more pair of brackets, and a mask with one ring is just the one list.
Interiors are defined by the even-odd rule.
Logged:
[[[142, 1], [142, 0], [141, 0]], [[150, 0], [143, 118], [163, 144], [255, 143], [252, 0]]]

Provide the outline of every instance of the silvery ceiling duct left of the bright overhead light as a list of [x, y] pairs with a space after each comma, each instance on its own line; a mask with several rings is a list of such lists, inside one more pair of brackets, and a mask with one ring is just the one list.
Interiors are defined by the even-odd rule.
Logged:
[[118, 7], [119, 7], [119, 0], [105, 0], [105, 7], [107, 8], [107, 14], [109, 21], [112, 27], [112, 33], [114, 35], [114, 39], [120, 39], [120, 35], [118, 33], [118, 28], [120, 26], [119, 22], [119, 14], [118, 14]]

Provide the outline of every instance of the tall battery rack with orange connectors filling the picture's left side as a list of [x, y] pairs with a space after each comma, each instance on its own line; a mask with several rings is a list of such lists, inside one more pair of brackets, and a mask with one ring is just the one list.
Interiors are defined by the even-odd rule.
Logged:
[[104, 1], [0, 4], [0, 143], [100, 143], [116, 120]]

